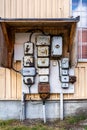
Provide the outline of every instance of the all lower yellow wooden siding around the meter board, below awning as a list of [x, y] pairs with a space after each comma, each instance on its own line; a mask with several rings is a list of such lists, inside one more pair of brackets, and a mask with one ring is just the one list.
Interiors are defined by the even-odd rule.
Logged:
[[[20, 68], [20, 63], [15, 65]], [[87, 63], [78, 63], [75, 68], [77, 82], [75, 93], [64, 95], [64, 99], [87, 99]], [[13, 70], [0, 68], [0, 100], [20, 100], [22, 91], [21, 75]], [[40, 100], [38, 94], [27, 95], [26, 99]], [[51, 100], [58, 100], [59, 94], [51, 94]]]

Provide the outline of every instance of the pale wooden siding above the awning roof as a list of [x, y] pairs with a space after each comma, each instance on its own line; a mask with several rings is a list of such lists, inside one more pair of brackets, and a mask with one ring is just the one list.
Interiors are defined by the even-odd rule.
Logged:
[[70, 0], [0, 0], [2, 18], [68, 18]]

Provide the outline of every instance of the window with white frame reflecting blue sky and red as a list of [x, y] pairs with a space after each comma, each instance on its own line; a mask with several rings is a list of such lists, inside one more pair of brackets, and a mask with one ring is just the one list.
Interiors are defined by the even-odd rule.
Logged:
[[78, 59], [87, 61], [87, 0], [72, 0], [72, 14], [80, 16], [78, 23]]

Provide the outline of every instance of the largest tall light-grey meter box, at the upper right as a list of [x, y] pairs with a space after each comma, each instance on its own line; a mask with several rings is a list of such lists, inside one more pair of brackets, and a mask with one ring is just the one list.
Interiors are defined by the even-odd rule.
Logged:
[[62, 42], [61, 36], [52, 37], [51, 56], [60, 57], [62, 55]]

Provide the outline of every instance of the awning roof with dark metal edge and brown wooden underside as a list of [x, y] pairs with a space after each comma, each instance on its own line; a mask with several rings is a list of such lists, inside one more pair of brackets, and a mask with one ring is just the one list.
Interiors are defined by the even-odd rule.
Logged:
[[30, 18], [0, 18], [0, 23], [5, 23], [8, 27], [13, 29], [28, 28], [28, 27], [59, 27], [70, 28], [72, 24], [79, 21], [80, 17], [76, 18], [47, 18], [47, 19], [30, 19]]

